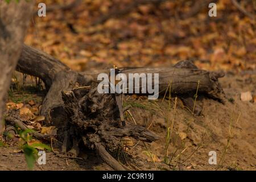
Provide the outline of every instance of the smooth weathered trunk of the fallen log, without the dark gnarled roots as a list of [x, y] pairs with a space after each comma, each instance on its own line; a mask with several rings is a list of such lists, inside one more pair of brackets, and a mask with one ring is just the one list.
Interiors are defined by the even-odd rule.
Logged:
[[[16, 70], [39, 77], [46, 84], [48, 94], [44, 99], [42, 114], [47, 114], [49, 110], [63, 105], [62, 90], [70, 91], [76, 83], [90, 85], [92, 81], [97, 81], [99, 73], [109, 73], [110, 71], [104, 69], [77, 73], [54, 57], [25, 45], [23, 45]], [[225, 95], [218, 82], [218, 77], [224, 75], [218, 72], [197, 69], [190, 61], [182, 61], [174, 67], [122, 68], [121, 70], [126, 75], [129, 73], [159, 73], [160, 94], [164, 94], [170, 80], [172, 80], [172, 93], [195, 94], [198, 81], [200, 81], [199, 93], [206, 93], [214, 99], [224, 101]]]

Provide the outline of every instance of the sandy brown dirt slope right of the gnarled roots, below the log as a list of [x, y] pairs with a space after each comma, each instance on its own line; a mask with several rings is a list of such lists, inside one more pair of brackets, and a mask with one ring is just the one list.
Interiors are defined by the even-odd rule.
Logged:
[[[226, 93], [226, 103], [221, 104], [199, 96], [196, 105], [202, 106], [203, 111], [198, 117], [194, 117], [178, 99], [174, 133], [171, 135], [171, 144], [168, 148], [172, 169], [255, 169], [256, 103], [240, 100], [241, 92], [255, 92], [255, 78], [255, 75], [228, 74], [220, 79]], [[161, 137], [148, 145], [148, 150], [162, 160], [166, 143], [168, 101], [160, 105], [161, 101], [148, 103], [129, 98], [127, 102], [135, 106], [131, 113], [139, 125], [149, 126], [155, 118], [150, 129]], [[174, 98], [171, 100], [171, 107], [172, 117]], [[132, 119], [130, 121], [132, 122]], [[150, 161], [143, 151], [145, 148], [139, 143], [133, 149], [133, 154]], [[217, 165], [208, 163], [209, 151], [216, 151]], [[148, 169], [148, 166], [141, 168]]]

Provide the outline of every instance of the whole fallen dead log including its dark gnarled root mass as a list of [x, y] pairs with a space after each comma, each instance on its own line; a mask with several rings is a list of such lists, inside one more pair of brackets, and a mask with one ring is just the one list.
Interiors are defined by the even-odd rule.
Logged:
[[[97, 92], [98, 73], [101, 71], [75, 72], [52, 56], [23, 45], [17, 71], [41, 78], [47, 88], [41, 113], [52, 125], [58, 127], [58, 136], [63, 140], [63, 152], [79, 154], [79, 143], [96, 149], [102, 159], [114, 169], [124, 169], [107, 151], [122, 148], [122, 137], [133, 137], [144, 142], [157, 140], [158, 135], [142, 126], [127, 123], [119, 125], [119, 110], [114, 94]], [[159, 73], [159, 91], [164, 94], [170, 80], [171, 92], [191, 101], [199, 93], [223, 102], [225, 99], [218, 72], [197, 69], [190, 61], [181, 61], [174, 67], [165, 68], [122, 68], [129, 73]], [[70, 142], [71, 141], [71, 142]], [[71, 146], [71, 144], [73, 146]]]

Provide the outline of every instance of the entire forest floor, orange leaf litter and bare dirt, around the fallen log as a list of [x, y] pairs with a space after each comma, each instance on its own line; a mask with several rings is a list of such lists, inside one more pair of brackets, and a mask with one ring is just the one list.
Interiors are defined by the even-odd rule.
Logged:
[[[40, 1], [41, 2], [41, 1]], [[65, 1], [69, 2], [69, 1]], [[119, 2], [125, 7], [130, 0]], [[110, 0], [82, 1], [69, 11], [52, 11], [45, 18], [34, 16], [25, 43], [55, 56], [76, 71], [88, 69], [170, 66], [189, 59], [200, 69], [223, 70], [219, 81], [226, 94], [225, 104], [200, 96], [200, 116], [192, 115], [177, 98], [174, 132], [168, 147], [169, 164], [163, 163], [167, 118], [174, 115], [175, 98], [149, 101], [143, 96], [125, 96], [138, 125], [150, 126], [160, 136], [152, 143], [130, 139], [125, 147], [127, 169], [145, 170], [255, 170], [256, 169], [256, 27], [255, 20], [237, 10], [229, 0], [218, 1], [217, 17], [208, 16], [208, 7], [193, 16], [191, 1], [166, 1], [158, 7], [140, 5], [129, 14], [92, 25], [115, 3]], [[46, 1], [52, 5], [56, 1]], [[255, 7], [241, 1], [248, 12]], [[97, 11], [96, 11], [97, 10]], [[35, 88], [35, 78], [15, 73], [7, 109], [16, 108], [31, 129], [55, 132], [38, 116], [45, 92]], [[40, 84], [38, 84], [40, 87]], [[252, 101], [241, 101], [242, 92]], [[126, 113], [127, 114], [127, 113]], [[37, 117], [38, 116], [38, 117]], [[134, 122], [125, 115], [127, 122]], [[30, 140], [39, 142], [38, 140]], [[51, 143], [46, 143], [51, 146]], [[27, 163], [19, 137], [0, 140], [0, 170], [26, 170]], [[35, 170], [112, 170], [94, 151], [85, 150], [77, 159], [60, 156], [57, 142], [46, 152], [46, 165]], [[53, 152], [55, 151], [55, 152]], [[210, 165], [210, 151], [217, 153], [217, 165]]]

